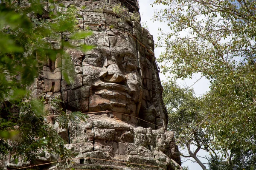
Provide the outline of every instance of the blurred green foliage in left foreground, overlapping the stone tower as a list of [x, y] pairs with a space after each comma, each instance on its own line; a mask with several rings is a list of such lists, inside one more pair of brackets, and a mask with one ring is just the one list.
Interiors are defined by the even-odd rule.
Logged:
[[[71, 59], [64, 48], [74, 48], [61, 40], [61, 48], [52, 48], [47, 39], [57, 40], [64, 31], [76, 31], [76, 7], [63, 12], [53, 11], [55, 0], [1, 0], [0, 1], [0, 159], [20, 157], [23, 162], [33, 163], [39, 150], [57, 153], [67, 159], [69, 151], [56, 131], [45, 122], [43, 102], [32, 100], [29, 87], [37, 77], [40, 63], [61, 54], [63, 63], [70, 65]], [[61, 7], [61, 3], [58, 4]], [[45, 8], [48, 8], [46, 11]], [[74, 34], [80, 39], [90, 33]], [[81, 45], [86, 51], [90, 46]], [[72, 64], [62, 71], [70, 82], [74, 72]], [[68, 121], [84, 119], [80, 113], [66, 116], [55, 105], [54, 111], [61, 116], [60, 126]], [[7, 157], [8, 156], [8, 157]]]

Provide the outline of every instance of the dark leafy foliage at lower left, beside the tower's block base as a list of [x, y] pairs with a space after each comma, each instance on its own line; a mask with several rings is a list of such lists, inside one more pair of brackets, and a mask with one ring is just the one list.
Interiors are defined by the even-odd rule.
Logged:
[[22, 156], [23, 161], [33, 162], [38, 151], [47, 150], [59, 154], [61, 159], [67, 159], [69, 151], [65, 149], [63, 139], [45, 123], [43, 115], [36, 114], [31, 102], [21, 102], [18, 107], [18, 117], [9, 114], [8, 119], [1, 118], [2, 156], [12, 155], [16, 160]]

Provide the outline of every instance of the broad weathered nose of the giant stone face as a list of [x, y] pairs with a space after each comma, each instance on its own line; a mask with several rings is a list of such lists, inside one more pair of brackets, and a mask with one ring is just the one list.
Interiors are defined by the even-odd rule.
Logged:
[[108, 75], [104, 78], [105, 81], [113, 83], [124, 83], [127, 81], [116, 63], [108, 65], [107, 70]]

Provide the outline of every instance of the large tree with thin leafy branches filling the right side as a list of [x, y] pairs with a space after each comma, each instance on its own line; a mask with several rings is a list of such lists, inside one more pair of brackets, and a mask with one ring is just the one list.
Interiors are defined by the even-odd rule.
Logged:
[[[155, 0], [166, 5], [155, 20], [166, 22], [166, 51], [159, 58], [173, 79], [195, 73], [209, 79], [210, 91], [201, 99], [203, 126], [215, 150], [232, 160], [237, 149], [255, 149], [256, 1]], [[160, 39], [161, 39], [160, 38]], [[229, 161], [232, 165], [232, 161]]]

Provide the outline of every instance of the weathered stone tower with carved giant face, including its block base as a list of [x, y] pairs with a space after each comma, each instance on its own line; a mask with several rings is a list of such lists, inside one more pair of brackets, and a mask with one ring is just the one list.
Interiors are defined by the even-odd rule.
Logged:
[[[70, 125], [69, 129], [57, 128], [52, 121], [54, 118], [48, 120], [67, 141], [66, 147], [74, 158], [80, 158], [75, 160], [76, 169], [158, 170], [162, 167], [181, 170], [174, 133], [166, 131], [168, 116], [153, 37], [140, 24], [137, 0], [61, 1], [64, 6], [56, 3], [54, 10], [76, 6], [77, 31], [89, 28], [93, 34], [72, 40], [73, 33], [64, 32], [60, 39], [78, 48], [81, 44], [95, 45], [95, 48], [86, 53], [65, 49], [75, 69], [71, 85], [62, 77], [65, 64], [61, 55], [46, 61], [32, 92], [35, 97], [47, 100], [60, 98], [66, 113], [102, 111], [88, 114], [87, 122]], [[48, 9], [49, 4], [46, 4]], [[54, 48], [61, 46], [58, 40], [52, 40], [51, 44]], [[82, 159], [87, 157], [97, 159]], [[43, 154], [38, 162], [55, 160], [54, 156]], [[50, 164], [45, 169], [55, 166]]]

